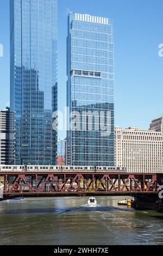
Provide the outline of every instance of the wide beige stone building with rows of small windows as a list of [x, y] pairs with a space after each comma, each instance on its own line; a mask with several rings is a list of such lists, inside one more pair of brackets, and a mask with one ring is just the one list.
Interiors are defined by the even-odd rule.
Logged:
[[163, 172], [162, 146], [159, 131], [115, 127], [115, 164], [128, 172]]

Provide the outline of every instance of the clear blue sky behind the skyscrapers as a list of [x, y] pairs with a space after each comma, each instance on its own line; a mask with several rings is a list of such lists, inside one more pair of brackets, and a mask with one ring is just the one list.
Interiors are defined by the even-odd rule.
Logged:
[[[59, 109], [66, 105], [66, 36], [70, 11], [114, 19], [115, 125], [148, 129], [163, 113], [162, 0], [58, 0]], [[0, 108], [9, 102], [9, 0], [0, 0]], [[59, 132], [59, 137], [65, 132]]]

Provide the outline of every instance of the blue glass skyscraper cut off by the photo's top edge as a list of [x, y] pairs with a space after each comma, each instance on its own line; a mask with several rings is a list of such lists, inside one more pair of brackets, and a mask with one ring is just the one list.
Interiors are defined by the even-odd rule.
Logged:
[[57, 0], [10, 0], [15, 164], [56, 164]]

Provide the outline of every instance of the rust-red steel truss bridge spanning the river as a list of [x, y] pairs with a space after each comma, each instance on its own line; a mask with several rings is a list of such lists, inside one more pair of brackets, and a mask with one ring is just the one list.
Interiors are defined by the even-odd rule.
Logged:
[[1, 172], [8, 196], [136, 196], [158, 193], [156, 173], [127, 172]]

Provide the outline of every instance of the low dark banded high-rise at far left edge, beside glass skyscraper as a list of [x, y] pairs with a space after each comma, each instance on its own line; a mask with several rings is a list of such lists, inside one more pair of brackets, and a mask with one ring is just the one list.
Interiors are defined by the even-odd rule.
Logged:
[[10, 133], [10, 109], [0, 111], [0, 164], [10, 164], [14, 155], [14, 136]]

